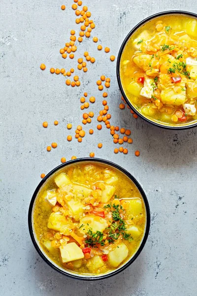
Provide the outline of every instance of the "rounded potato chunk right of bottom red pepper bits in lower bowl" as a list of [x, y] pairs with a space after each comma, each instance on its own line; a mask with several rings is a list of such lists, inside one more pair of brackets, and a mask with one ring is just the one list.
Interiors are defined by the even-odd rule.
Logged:
[[118, 245], [108, 254], [109, 264], [112, 267], [118, 267], [118, 265], [120, 265], [120, 263], [127, 258], [128, 254], [129, 249], [124, 243]]

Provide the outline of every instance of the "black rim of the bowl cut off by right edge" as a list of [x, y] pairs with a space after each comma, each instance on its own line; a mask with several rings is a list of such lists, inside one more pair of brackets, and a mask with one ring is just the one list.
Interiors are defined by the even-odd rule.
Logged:
[[139, 111], [137, 111], [132, 106], [131, 102], [127, 98], [127, 96], [126, 96], [126, 94], [124, 92], [122, 83], [121, 83], [121, 78], [120, 78], [120, 61], [121, 61], [122, 52], [123, 52], [123, 50], [125, 48], [125, 45], [126, 45], [127, 41], [130, 39], [131, 35], [140, 26], [144, 25], [146, 22], [148, 22], [148, 21], [150, 21], [150, 20], [152, 20], [152, 19], [154, 19], [156, 17], [163, 16], [163, 15], [168, 15], [168, 14], [185, 14], [185, 15], [190, 15], [190, 16], [193, 16], [193, 17], [197, 18], [197, 14], [194, 13], [194, 12], [182, 11], [182, 10], [167, 10], [167, 11], [162, 11], [162, 12], [155, 13], [155, 14], [153, 14], [153, 15], [145, 18], [141, 22], [139, 22], [135, 27], [133, 27], [133, 29], [125, 37], [125, 39], [124, 39], [124, 41], [123, 41], [123, 43], [122, 43], [122, 45], [120, 47], [120, 50], [119, 50], [119, 53], [118, 53], [118, 58], [117, 58], [117, 64], [116, 64], [116, 75], [117, 75], [118, 85], [119, 85], [119, 88], [120, 88], [120, 91], [121, 91], [121, 94], [122, 94], [123, 98], [125, 99], [127, 105], [131, 108], [131, 110], [134, 111], [140, 118], [142, 118], [146, 122], [151, 123], [154, 126], [161, 127], [161, 128], [164, 128], [164, 129], [168, 129], [168, 130], [185, 130], [185, 129], [196, 127], [197, 126], [197, 122], [194, 123], [194, 124], [189, 124], [187, 126], [179, 126], [179, 127], [178, 126], [167, 126], [167, 125], [163, 125], [163, 124], [157, 123], [157, 122], [155, 122], [153, 120], [150, 120], [149, 118], [147, 118], [144, 115], [142, 115]]

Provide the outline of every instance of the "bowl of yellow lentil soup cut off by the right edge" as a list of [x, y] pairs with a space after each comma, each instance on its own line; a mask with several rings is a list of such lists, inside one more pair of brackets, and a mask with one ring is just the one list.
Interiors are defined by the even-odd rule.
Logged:
[[121, 93], [132, 111], [156, 126], [197, 126], [197, 14], [152, 15], [125, 38], [117, 60]]

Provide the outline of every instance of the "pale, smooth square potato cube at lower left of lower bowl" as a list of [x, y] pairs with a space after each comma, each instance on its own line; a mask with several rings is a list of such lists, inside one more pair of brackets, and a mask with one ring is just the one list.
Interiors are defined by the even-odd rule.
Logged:
[[62, 245], [59, 249], [63, 263], [84, 258], [82, 250], [76, 243]]

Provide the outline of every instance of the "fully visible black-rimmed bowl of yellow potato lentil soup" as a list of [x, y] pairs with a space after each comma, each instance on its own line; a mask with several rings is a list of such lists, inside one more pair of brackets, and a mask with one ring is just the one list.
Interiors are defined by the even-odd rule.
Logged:
[[29, 208], [33, 245], [51, 267], [98, 280], [128, 267], [148, 237], [150, 210], [139, 183], [120, 166], [80, 158], [51, 171]]

